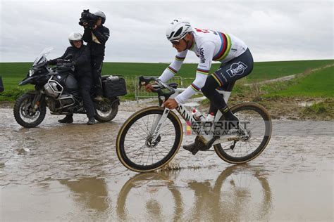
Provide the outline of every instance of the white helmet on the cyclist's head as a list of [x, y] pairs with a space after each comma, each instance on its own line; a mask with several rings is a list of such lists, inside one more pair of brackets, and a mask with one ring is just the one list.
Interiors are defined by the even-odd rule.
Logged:
[[176, 18], [166, 30], [166, 37], [169, 41], [181, 39], [188, 32], [192, 32], [192, 26], [188, 18]]

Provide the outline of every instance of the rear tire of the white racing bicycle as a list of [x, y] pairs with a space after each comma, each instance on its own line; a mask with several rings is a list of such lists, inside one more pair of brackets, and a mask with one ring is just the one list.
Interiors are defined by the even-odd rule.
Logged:
[[[269, 113], [266, 111], [266, 109], [264, 107], [262, 107], [261, 105], [256, 104], [256, 103], [241, 103], [241, 104], [238, 104], [238, 105], [235, 105], [235, 106], [231, 107], [230, 110], [235, 115], [237, 115], [237, 112], [240, 112], [240, 111], [252, 110], [254, 112], [257, 112], [257, 114], [259, 114], [261, 116], [261, 118], [264, 120], [265, 129], [264, 129], [264, 136], [261, 140], [261, 143], [259, 144], [259, 146], [256, 149], [254, 149], [254, 151], [252, 151], [250, 153], [247, 153], [247, 155], [242, 155], [242, 156], [239, 156], [239, 157], [235, 157], [235, 156], [230, 155], [228, 153], [228, 151], [230, 151], [231, 149], [224, 149], [221, 146], [221, 144], [214, 145], [214, 150], [216, 151], [218, 157], [223, 159], [225, 162], [228, 162], [228, 163], [231, 163], [231, 164], [243, 164], [245, 162], [249, 162], [252, 159], [258, 157], [261, 154], [261, 152], [264, 151], [264, 149], [266, 148], [266, 145], [268, 145], [268, 142], [270, 141], [270, 138], [271, 138], [271, 132], [272, 132], [271, 117], [270, 117]], [[223, 120], [223, 119], [221, 119], [221, 120]], [[240, 119], [240, 118], [239, 118], [239, 120], [242, 121], [242, 119]], [[231, 142], [229, 142], [229, 143], [231, 143]], [[237, 142], [237, 143], [247, 143], [247, 142]], [[247, 144], [246, 144], [246, 146], [247, 146]], [[228, 147], [228, 145], [225, 146], [225, 147]], [[230, 152], [235, 153], [234, 150], [230, 151]]]

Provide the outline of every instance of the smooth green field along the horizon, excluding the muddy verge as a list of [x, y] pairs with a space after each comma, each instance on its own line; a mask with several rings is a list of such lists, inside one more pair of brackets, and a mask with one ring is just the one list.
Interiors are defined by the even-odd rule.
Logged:
[[[291, 74], [307, 72], [307, 70], [323, 67], [325, 65], [330, 65], [333, 63], [334, 60], [300, 60], [254, 63], [253, 72], [249, 74], [249, 76], [245, 77], [242, 81], [247, 83], [262, 81], [265, 79], [275, 79]], [[31, 65], [32, 63], [0, 63], [0, 75], [2, 76], [5, 87], [5, 91], [3, 93], [0, 93], [0, 101], [16, 100], [16, 98], [20, 96], [20, 94], [22, 94], [24, 91], [33, 89], [32, 85], [18, 86], [18, 82], [20, 82], [26, 76]], [[220, 63], [214, 63], [211, 67], [211, 72], [217, 70], [219, 65]], [[161, 74], [167, 66], [168, 64], [166, 63], [104, 63], [102, 74], [123, 75], [123, 77], [127, 79], [127, 83], [129, 84], [128, 98], [131, 98], [133, 96], [133, 77], [137, 77], [140, 75], [159, 76], [159, 74]], [[197, 64], [184, 64], [180, 72], [178, 72], [178, 75], [183, 78], [194, 78], [196, 68]], [[315, 81], [315, 79], [310, 79], [307, 81], [311, 83], [312, 81]], [[324, 81], [326, 81], [326, 78]], [[333, 82], [333, 78], [331, 82]], [[295, 92], [304, 89], [304, 86], [301, 87], [302, 88], [295, 89]], [[318, 90], [325, 91], [326, 89], [319, 87]], [[285, 91], [285, 95], [288, 95], [289, 93], [289, 91]], [[327, 95], [328, 93], [325, 94]], [[321, 93], [318, 92], [317, 95], [321, 95]]]

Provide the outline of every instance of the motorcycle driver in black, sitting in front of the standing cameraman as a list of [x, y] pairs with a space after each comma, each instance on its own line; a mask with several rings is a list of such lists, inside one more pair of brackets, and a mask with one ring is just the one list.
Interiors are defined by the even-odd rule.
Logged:
[[[87, 46], [83, 44], [82, 34], [77, 32], [72, 32], [68, 41], [70, 45], [66, 48], [65, 53], [54, 60], [49, 60], [49, 65], [56, 65], [58, 59], [70, 58], [72, 65], [74, 65], [75, 79], [78, 80], [80, 93], [82, 96], [83, 106], [87, 111], [88, 125], [95, 123], [95, 108], [92, 98], [90, 97], [90, 90], [92, 88], [92, 67], [90, 64], [90, 51]], [[59, 119], [58, 122], [61, 123], [72, 123], [73, 114], [66, 115], [65, 118]]]

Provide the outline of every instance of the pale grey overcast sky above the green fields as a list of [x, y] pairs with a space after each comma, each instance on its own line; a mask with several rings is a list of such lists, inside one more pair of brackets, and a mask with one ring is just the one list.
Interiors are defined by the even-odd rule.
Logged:
[[[193, 27], [239, 37], [255, 61], [333, 59], [333, 1], [16, 1], [0, 0], [1, 62], [32, 62], [52, 46], [63, 55], [82, 9], [106, 14], [107, 62], [169, 63], [166, 27], [181, 16]], [[188, 53], [185, 63], [197, 63]]]

